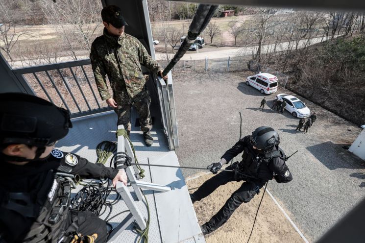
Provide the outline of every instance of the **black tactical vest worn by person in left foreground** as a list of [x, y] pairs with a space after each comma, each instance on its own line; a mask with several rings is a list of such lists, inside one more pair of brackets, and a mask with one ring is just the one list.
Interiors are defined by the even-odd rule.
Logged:
[[24, 243], [63, 242], [71, 196], [71, 181], [67, 177], [49, 170], [32, 192], [6, 196], [1, 207], [35, 219]]

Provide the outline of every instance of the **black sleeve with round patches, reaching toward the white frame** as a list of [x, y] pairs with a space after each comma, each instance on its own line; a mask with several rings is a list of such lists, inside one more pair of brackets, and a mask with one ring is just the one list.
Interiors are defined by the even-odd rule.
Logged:
[[103, 164], [94, 164], [73, 153], [63, 152], [60, 166], [72, 169], [71, 174], [78, 174], [81, 178], [109, 178], [113, 179], [118, 170]]

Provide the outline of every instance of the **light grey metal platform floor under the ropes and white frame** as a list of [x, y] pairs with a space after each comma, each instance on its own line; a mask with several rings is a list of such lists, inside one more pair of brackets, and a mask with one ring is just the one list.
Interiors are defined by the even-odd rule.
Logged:
[[[174, 151], [169, 150], [167, 139], [158, 121], [155, 122], [156, 124], [153, 125], [151, 131], [154, 143], [150, 147], [144, 145], [142, 132], [139, 131], [139, 127], [134, 126], [136, 121], [136, 114], [134, 112], [132, 112], [131, 121], [131, 141], [140, 163], [179, 166], [177, 156]], [[117, 116], [114, 111], [73, 120], [73, 128], [70, 130], [68, 136], [59, 141], [56, 146], [62, 151], [73, 152], [88, 159], [90, 162], [95, 162], [97, 160], [95, 148], [100, 142], [104, 140], [117, 141], [115, 135], [117, 129], [116, 123]], [[109, 163], [108, 161], [105, 165], [109, 166]], [[142, 168], [145, 170], [143, 181], [170, 186], [172, 188], [170, 192], [165, 193], [143, 190], [150, 210], [148, 242], [205, 243], [181, 170], [147, 166], [142, 166]], [[74, 193], [81, 188], [81, 186], [78, 186], [74, 190]], [[137, 196], [133, 192], [132, 187], [128, 188], [136, 200], [135, 202], [139, 210], [147, 218], [148, 214], [145, 202], [137, 201]], [[116, 194], [111, 194], [108, 199], [113, 200], [114, 198], [116, 198]], [[128, 209], [125, 203], [120, 200], [113, 206], [110, 217], [126, 210]], [[101, 218], [106, 217], [107, 214], [108, 210]], [[125, 212], [113, 218], [110, 221], [113, 228], [118, 226], [127, 215], [128, 212]], [[133, 230], [132, 225], [129, 225], [114, 242], [136, 243], [138, 238], [137, 232]]]

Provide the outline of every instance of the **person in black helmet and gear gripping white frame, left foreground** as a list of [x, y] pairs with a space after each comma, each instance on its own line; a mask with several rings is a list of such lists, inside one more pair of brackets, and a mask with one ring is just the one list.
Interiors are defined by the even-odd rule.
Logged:
[[[127, 181], [124, 170], [54, 149], [72, 127], [69, 112], [20, 93], [0, 94], [0, 242], [104, 242], [106, 222], [71, 210], [74, 175]], [[76, 238], [78, 241], [76, 241]]]

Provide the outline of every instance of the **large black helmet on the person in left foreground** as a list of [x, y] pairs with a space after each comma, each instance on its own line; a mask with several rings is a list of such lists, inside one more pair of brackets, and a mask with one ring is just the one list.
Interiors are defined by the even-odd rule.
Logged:
[[0, 145], [36, 146], [39, 158], [45, 146], [65, 137], [71, 127], [69, 112], [47, 100], [22, 93], [0, 94]]

